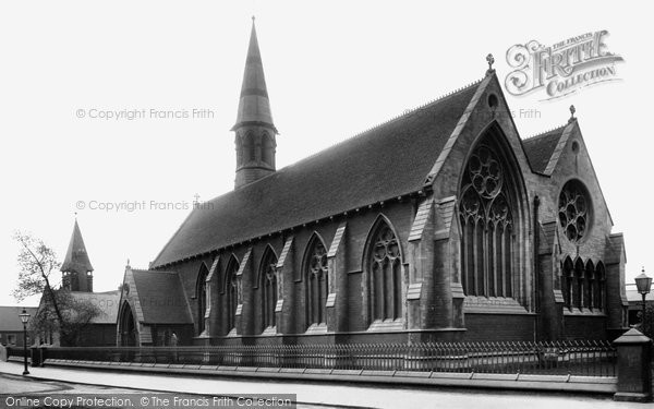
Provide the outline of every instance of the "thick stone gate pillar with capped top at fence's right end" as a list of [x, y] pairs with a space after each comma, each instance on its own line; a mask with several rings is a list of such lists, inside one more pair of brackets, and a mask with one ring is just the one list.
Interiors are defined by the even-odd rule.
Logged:
[[652, 339], [635, 328], [614, 341], [618, 349], [618, 392], [614, 400], [652, 400]]

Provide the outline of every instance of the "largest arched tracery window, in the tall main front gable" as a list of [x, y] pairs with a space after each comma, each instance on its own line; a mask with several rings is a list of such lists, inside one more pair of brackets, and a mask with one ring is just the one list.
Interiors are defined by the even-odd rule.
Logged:
[[477, 147], [464, 170], [459, 217], [467, 296], [512, 297], [513, 216], [498, 156]]

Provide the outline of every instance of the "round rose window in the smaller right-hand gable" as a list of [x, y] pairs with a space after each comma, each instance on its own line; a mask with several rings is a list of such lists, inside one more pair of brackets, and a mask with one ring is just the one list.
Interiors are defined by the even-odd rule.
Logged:
[[586, 190], [579, 181], [564, 185], [559, 195], [559, 222], [568, 240], [580, 241], [590, 227], [591, 212]]

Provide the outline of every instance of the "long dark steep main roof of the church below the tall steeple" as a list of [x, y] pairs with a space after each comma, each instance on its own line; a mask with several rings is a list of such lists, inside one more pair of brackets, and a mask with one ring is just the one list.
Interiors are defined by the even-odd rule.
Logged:
[[153, 267], [423, 189], [477, 86], [472, 84], [193, 209]]

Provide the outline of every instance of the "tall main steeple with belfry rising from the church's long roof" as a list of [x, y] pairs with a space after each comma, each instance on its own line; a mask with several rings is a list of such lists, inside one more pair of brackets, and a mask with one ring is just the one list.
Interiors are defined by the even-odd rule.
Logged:
[[275, 172], [277, 128], [272, 123], [254, 17], [252, 17], [250, 47], [245, 60], [237, 123], [232, 131], [237, 133], [234, 141], [237, 145], [235, 188]]

